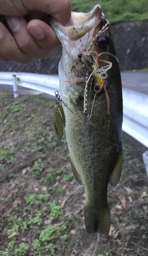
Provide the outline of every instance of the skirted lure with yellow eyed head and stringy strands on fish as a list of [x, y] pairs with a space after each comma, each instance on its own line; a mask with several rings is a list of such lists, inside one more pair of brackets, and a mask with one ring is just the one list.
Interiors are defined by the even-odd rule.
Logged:
[[[75, 28], [73, 28], [75, 29]], [[86, 122], [86, 127], [88, 127], [89, 125], [89, 120], [91, 118], [92, 115], [92, 110], [93, 110], [93, 105], [94, 105], [94, 101], [95, 101], [95, 97], [96, 94], [98, 92], [100, 92], [102, 90], [102, 88], [104, 88], [105, 91], [105, 97], [106, 97], [106, 101], [107, 101], [107, 112], [109, 115], [109, 118], [111, 119], [110, 116], [110, 110], [109, 110], [109, 95], [108, 92], [106, 90], [106, 85], [105, 85], [105, 80], [107, 78], [107, 71], [109, 69], [112, 68], [112, 62], [111, 61], [107, 61], [104, 59], [100, 59], [100, 56], [103, 54], [109, 54], [112, 55], [113, 57], [116, 58], [116, 60], [118, 61], [117, 57], [109, 52], [103, 52], [100, 54], [97, 54], [97, 52], [95, 51], [90, 51], [90, 48], [92, 46], [92, 44], [94, 43], [94, 41], [96, 40], [96, 38], [102, 34], [103, 32], [105, 32], [108, 29], [108, 25], [106, 24], [100, 31], [98, 31], [98, 33], [93, 37], [92, 41], [90, 42], [90, 44], [88, 45], [88, 38], [89, 38], [89, 34], [88, 34], [88, 38], [87, 38], [87, 44], [84, 48], [84, 50], [81, 51], [81, 53], [78, 54], [78, 57], [80, 58], [80, 62], [82, 63], [82, 66], [84, 68], [84, 70], [86, 70], [86, 63], [85, 63], [85, 58], [86, 56], [91, 56], [91, 64], [92, 64], [92, 68], [91, 68], [91, 73], [88, 76], [88, 70], [86, 70], [86, 78], [85, 81], [84, 80], [78, 80], [78, 81], [65, 81], [70, 83], [78, 83], [78, 82], [85, 82], [85, 91], [84, 91], [84, 113], [87, 113], [87, 96], [88, 96], [88, 83], [90, 82], [90, 79], [94, 81], [94, 86], [93, 86], [93, 91], [95, 92], [94, 95], [94, 99], [93, 99], [93, 103], [92, 103], [92, 108], [91, 108], [91, 112], [90, 115], [88, 114], [87, 116], [87, 122]], [[75, 29], [76, 30], [76, 29]], [[76, 33], [78, 34], [77, 30]], [[79, 39], [81, 40], [80, 36]], [[82, 40], [81, 40], [81, 44], [82, 44]], [[100, 62], [104, 62], [105, 66], [100, 67]], [[75, 66], [72, 66], [72, 69], [75, 68]], [[71, 69], [71, 70], [72, 70]], [[70, 85], [71, 86], [71, 85]]]

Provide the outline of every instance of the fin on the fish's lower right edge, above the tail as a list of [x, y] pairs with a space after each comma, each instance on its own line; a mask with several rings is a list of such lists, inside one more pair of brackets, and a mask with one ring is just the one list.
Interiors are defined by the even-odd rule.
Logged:
[[119, 155], [115, 164], [115, 167], [110, 175], [109, 178], [109, 184], [113, 187], [118, 184], [121, 176], [121, 170], [122, 170], [122, 161], [123, 161], [123, 156], [122, 156], [122, 147], [120, 147], [119, 150]]

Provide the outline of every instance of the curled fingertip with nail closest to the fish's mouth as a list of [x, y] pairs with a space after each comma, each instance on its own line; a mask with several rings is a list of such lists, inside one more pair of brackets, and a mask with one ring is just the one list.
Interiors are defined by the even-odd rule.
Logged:
[[28, 24], [28, 30], [37, 44], [44, 50], [50, 51], [60, 45], [60, 41], [50, 26], [39, 19], [33, 19]]

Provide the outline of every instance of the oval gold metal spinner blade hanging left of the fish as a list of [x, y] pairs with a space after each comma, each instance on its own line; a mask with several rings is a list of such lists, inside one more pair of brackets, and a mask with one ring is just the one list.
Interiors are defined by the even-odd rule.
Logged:
[[61, 142], [65, 128], [65, 115], [62, 106], [60, 106], [58, 111], [55, 110], [54, 125], [58, 141]]

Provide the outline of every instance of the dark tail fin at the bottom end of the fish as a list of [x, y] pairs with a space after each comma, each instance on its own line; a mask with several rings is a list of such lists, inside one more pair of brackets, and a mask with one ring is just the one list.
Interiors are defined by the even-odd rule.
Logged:
[[108, 235], [110, 230], [110, 208], [107, 205], [102, 210], [84, 208], [85, 226], [88, 233], [98, 232]]

